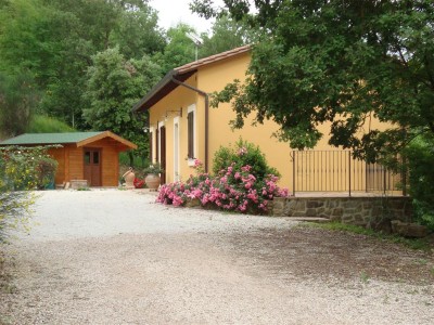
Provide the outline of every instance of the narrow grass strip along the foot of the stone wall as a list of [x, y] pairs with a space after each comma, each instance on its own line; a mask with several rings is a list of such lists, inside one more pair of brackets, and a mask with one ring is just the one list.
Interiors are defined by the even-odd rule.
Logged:
[[380, 240], [386, 240], [388, 243], [400, 244], [406, 247], [416, 250], [425, 250], [432, 251], [433, 246], [430, 244], [427, 238], [406, 238], [398, 235], [386, 235], [383, 233], [375, 232], [371, 229], [366, 229], [363, 226], [354, 225], [354, 224], [345, 224], [341, 222], [329, 222], [329, 223], [305, 223], [304, 225], [320, 227], [329, 231], [337, 231], [337, 232], [347, 232], [354, 234], [360, 234], [369, 237], [374, 237]]

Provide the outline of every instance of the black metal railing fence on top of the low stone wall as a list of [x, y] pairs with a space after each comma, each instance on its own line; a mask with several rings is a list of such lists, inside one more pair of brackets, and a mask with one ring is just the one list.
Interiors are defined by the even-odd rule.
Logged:
[[[405, 186], [404, 186], [405, 187]], [[294, 151], [293, 192], [400, 192], [400, 174], [354, 159], [350, 151]], [[403, 193], [405, 194], [405, 193]]]

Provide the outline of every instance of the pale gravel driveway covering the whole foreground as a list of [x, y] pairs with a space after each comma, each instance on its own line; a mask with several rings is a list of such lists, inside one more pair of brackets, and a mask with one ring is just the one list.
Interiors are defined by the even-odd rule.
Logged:
[[432, 255], [154, 199], [43, 192], [7, 247], [0, 323], [433, 323]]

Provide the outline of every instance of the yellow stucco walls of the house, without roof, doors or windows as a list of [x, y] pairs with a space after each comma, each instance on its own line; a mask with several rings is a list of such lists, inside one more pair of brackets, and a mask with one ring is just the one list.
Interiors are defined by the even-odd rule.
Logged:
[[[220, 91], [224, 87], [233, 79], [243, 80], [250, 62], [250, 53], [243, 53], [232, 56], [227, 60], [221, 60], [217, 63], [208, 64], [199, 68], [199, 72], [186, 81], [202, 91], [212, 93]], [[166, 98], [159, 101], [150, 109], [151, 129], [154, 130], [159, 125], [166, 127], [166, 182], [173, 182], [179, 179], [186, 180], [193, 169], [189, 166], [187, 159], [187, 113], [188, 107], [195, 105], [196, 119], [196, 158], [204, 161], [205, 159], [205, 101], [204, 98], [192, 90], [184, 87], [178, 87]], [[182, 117], [178, 117], [177, 113], [169, 113], [165, 119], [167, 110], [179, 110], [182, 107]], [[292, 169], [292, 148], [288, 143], [279, 142], [272, 136], [272, 133], [278, 130], [278, 126], [272, 121], [265, 121], [264, 125], [252, 126], [252, 118], [245, 120], [245, 126], [241, 130], [231, 130], [229, 121], [234, 118], [234, 113], [230, 104], [220, 104], [218, 108], [209, 108], [209, 152], [208, 166], [212, 170], [212, 161], [214, 153], [221, 146], [233, 144], [240, 138], [259, 145], [266, 158], [272, 167], [277, 168], [282, 174], [280, 185], [289, 187], [292, 191], [293, 186], [293, 169]], [[179, 125], [179, 172], [176, 173], [174, 166], [174, 119], [178, 120]], [[371, 127], [378, 127], [376, 121], [371, 122]], [[328, 130], [330, 125], [323, 125], [319, 128], [324, 136], [321, 139], [315, 150], [333, 150], [335, 147], [328, 145]], [[153, 139], [153, 158], [156, 157], [155, 138]]]

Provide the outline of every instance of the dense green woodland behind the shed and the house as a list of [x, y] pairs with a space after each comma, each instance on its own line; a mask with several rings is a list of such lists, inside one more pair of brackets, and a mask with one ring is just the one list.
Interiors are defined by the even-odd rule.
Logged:
[[[0, 0], [0, 139], [111, 130], [140, 147], [132, 105], [168, 70], [194, 61], [184, 24], [164, 30], [148, 0]], [[200, 57], [250, 41], [227, 16], [201, 35]]]

